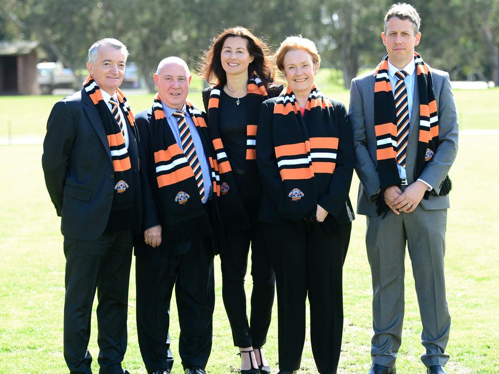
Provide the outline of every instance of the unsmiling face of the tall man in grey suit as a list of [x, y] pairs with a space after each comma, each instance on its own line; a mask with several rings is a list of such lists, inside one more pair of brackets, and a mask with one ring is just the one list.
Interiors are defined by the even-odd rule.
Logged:
[[397, 68], [403, 69], [414, 58], [414, 47], [419, 44], [421, 32], [414, 33], [409, 19], [391, 17], [386, 31], [381, 33], [388, 59]]

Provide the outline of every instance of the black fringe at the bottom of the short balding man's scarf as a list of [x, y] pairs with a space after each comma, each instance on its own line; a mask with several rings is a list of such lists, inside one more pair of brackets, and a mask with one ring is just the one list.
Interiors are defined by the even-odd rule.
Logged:
[[164, 237], [168, 241], [181, 244], [212, 235], [212, 233], [208, 216], [201, 214], [178, 223], [168, 224]]

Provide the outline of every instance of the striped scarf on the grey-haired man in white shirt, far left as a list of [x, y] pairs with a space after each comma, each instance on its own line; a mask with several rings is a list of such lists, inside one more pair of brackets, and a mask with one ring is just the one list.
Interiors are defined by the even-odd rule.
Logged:
[[[128, 229], [136, 229], [137, 218], [134, 210], [135, 183], [130, 163], [130, 156], [128, 155], [128, 150], [125, 146], [125, 139], [123, 138], [118, 123], [111, 115], [109, 107], [102, 98], [99, 86], [90, 75], [83, 83], [83, 89], [88, 96], [90, 96], [90, 99], [94, 103], [95, 108], [97, 109], [97, 112], [102, 120], [102, 125], [109, 143], [111, 159], [113, 161], [114, 181], [116, 181], [116, 185], [114, 187], [113, 203], [106, 231], [118, 232]], [[132, 111], [130, 110], [130, 106], [128, 105], [128, 101], [119, 88], [116, 89], [116, 96], [118, 98], [118, 105], [121, 112], [125, 115], [125, 122], [130, 125], [133, 130], [132, 134], [138, 141], [139, 137], [135, 126], [135, 119]], [[126, 126], [126, 124], [124, 126]], [[132, 141], [132, 139], [130, 139], [130, 141]]]

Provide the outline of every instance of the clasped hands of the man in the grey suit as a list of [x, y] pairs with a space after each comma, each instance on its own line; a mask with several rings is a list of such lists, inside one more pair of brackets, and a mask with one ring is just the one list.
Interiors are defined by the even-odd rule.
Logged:
[[410, 213], [416, 209], [423, 198], [428, 186], [416, 181], [402, 192], [398, 186], [388, 187], [385, 190], [385, 202], [395, 214]]

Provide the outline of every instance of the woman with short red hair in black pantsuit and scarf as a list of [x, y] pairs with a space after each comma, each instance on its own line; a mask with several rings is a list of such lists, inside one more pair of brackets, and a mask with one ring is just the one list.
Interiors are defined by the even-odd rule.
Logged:
[[315, 85], [315, 43], [290, 36], [275, 55], [287, 87], [261, 106], [256, 162], [263, 185], [258, 219], [275, 270], [279, 374], [300, 368], [305, 300], [318, 373], [335, 374], [343, 332], [342, 266], [353, 209], [354, 166], [345, 106]]

